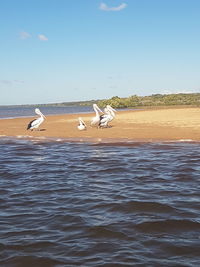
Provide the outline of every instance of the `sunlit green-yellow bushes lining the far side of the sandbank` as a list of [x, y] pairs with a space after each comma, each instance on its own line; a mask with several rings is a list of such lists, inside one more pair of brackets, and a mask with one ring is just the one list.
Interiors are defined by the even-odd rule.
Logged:
[[111, 105], [114, 108], [136, 108], [136, 107], [155, 107], [155, 106], [179, 106], [192, 105], [200, 106], [200, 93], [193, 94], [154, 94], [151, 96], [133, 95], [126, 98], [114, 96], [107, 100], [98, 101], [100, 107]]

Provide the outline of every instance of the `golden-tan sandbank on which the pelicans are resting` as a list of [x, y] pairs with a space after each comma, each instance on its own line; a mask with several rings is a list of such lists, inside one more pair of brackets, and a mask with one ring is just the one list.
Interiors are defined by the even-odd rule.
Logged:
[[[37, 118], [0, 120], [0, 136], [50, 137], [81, 141], [135, 140], [135, 141], [200, 141], [199, 108], [166, 108], [118, 111], [109, 128], [90, 127], [94, 113], [49, 115], [40, 131], [26, 130]], [[77, 129], [78, 117], [87, 124], [86, 131]]]

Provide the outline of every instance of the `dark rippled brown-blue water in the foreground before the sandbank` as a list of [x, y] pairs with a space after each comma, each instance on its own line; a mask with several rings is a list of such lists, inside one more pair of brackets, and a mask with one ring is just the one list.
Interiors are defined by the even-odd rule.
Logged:
[[199, 266], [199, 143], [0, 139], [0, 266]]

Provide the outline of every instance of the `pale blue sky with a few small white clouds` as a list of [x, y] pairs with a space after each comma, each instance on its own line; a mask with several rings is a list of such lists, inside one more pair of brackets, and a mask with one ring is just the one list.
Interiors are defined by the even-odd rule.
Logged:
[[200, 92], [199, 0], [0, 0], [0, 105]]

